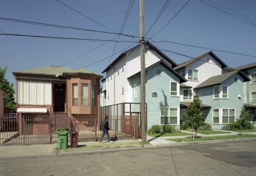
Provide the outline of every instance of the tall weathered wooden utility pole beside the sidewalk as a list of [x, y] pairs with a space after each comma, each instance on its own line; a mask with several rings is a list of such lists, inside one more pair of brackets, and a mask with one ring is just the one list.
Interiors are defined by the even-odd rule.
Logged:
[[144, 39], [144, 0], [140, 0], [140, 110], [141, 110], [141, 141], [147, 141], [145, 116], [145, 39]]

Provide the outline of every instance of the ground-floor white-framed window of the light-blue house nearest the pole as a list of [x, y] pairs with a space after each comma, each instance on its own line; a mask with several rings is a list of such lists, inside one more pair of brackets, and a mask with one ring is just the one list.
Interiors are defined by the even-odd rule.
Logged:
[[178, 108], [161, 108], [161, 125], [178, 124]]

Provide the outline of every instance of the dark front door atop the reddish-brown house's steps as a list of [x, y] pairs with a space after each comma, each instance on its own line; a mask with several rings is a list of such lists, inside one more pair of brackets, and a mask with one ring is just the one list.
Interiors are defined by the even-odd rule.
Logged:
[[63, 88], [55, 90], [54, 95], [54, 111], [63, 112], [65, 111], [65, 96]]

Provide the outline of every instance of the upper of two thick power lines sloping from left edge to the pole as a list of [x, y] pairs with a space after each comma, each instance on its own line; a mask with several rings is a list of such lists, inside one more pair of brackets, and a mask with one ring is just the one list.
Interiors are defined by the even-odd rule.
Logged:
[[[32, 24], [32, 25], [36, 25], [36, 26], [47, 26], [47, 27], [62, 28], [62, 29], [74, 29], [74, 30], [80, 30], [80, 31], [91, 31], [91, 32], [98, 32], [98, 33], [108, 33], [108, 34], [115, 34], [115, 35], [132, 36], [132, 38], [134, 38], [134, 37], [139, 38], [139, 36], [125, 35], [123, 33], [111, 33], [111, 32], [107, 32], [107, 31], [98, 31], [98, 30], [93, 30], [93, 29], [74, 28], [74, 27], [70, 27], [70, 26], [61, 26], [61, 25], [47, 24], [47, 23], [42, 23], [42, 22], [32, 22], [32, 21], [28, 21], [28, 20], [7, 19], [7, 18], [2, 18], [2, 17], [0, 17], [0, 20], [6, 20], [6, 21], [10, 21], [10, 22], [19, 22], [19, 23], [24, 23], [24, 24]], [[4, 33], [4, 31], [3, 31], [3, 33]]]

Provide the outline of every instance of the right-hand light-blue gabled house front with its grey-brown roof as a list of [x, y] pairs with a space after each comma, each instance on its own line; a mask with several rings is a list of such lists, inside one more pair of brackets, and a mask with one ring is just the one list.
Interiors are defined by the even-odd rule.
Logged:
[[205, 122], [213, 129], [235, 122], [244, 106], [244, 82], [250, 78], [234, 70], [220, 76], [210, 77], [194, 88], [203, 104], [211, 105], [205, 111]]

